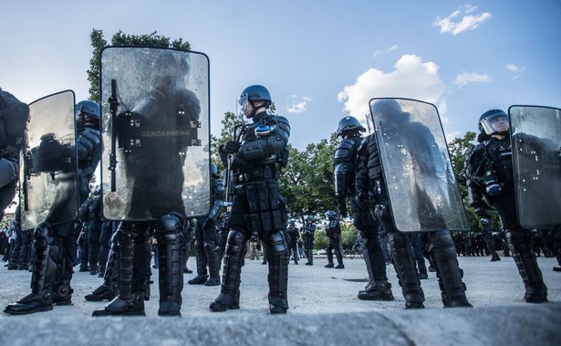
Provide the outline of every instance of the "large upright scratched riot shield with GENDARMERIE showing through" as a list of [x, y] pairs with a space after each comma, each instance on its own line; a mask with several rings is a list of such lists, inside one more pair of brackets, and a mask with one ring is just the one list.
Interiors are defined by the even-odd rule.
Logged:
[[210, 209], [209, 60], [155, 47], [101, 52], [103, 215], [149, 221]]

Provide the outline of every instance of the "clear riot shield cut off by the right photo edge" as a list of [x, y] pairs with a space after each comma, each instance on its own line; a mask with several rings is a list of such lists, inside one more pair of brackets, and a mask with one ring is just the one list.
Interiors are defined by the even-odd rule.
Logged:
[[561, 225], [561, 110], [540, 106], [508, 109], [514, 187], [520, 225]]

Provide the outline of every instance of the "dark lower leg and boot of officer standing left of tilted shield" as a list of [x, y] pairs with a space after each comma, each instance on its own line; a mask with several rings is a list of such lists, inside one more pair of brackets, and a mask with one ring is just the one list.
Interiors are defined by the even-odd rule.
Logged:
[[377, 234], [363, 235], [366, 239], [364, 262], [369, 273], [369, 283], [358, 292], [362, 300], [393, 300], [391, 284], [386, 276], [386, 261]]

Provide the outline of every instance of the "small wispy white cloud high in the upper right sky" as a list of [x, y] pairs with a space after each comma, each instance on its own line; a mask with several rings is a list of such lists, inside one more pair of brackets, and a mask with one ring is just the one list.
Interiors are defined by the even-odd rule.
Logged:
[[[489, 12], [468, 15], [473, 13], [476, 9], [476, 6], [463, 5], [459, 10], [452, 12], [450, 16], [445, 16], [443, 18], [437, 16], [436, 19], [434, 19], [434, 22], [432, 22], [432, 26], [440, 27], [441, 34], [451, 33], [455, 36], [467, 30], [473, 30], [493, 17], [493, 15]], [[459, 16], [462, 17], [459, 18]]]

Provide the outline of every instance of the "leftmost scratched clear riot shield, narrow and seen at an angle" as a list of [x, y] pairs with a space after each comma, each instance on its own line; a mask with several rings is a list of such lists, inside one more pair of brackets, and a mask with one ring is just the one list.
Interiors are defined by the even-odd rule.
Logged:
[[20, 160], [22, 229], [67, 223], [78, 213], [74, 92], [65, 90], [29, 105]]

